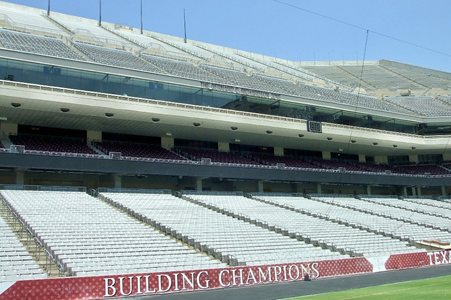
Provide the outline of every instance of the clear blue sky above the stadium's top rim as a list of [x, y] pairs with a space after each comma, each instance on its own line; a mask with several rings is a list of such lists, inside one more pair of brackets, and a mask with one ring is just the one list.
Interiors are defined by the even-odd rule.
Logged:
[[[451, 72], [449, 0], [142, 1], [145, 30], [183, 37], [185, 10], [188, 39], [293, 61], [361, 61], [369, 30], [366, 60]], [[51, 10], [98, 19], [99, 1], [51, 0]], [[102, 20], [139, 28], [140, 0], [102, 0]]]

